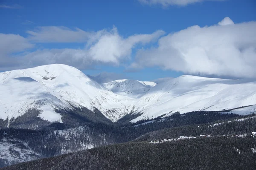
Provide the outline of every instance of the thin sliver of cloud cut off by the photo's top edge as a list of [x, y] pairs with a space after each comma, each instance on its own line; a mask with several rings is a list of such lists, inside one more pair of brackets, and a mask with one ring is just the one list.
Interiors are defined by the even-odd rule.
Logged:
[[200, 3], [204, 1], [224, 1], [224, 0], [139, 0], [141, 3], [147, 5], [160, 4], [161, 6], [186, 6], [192, 3]]

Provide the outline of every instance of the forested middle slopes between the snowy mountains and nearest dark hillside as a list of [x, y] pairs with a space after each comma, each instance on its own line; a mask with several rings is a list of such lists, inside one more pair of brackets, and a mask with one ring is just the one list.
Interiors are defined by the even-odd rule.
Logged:
[[[92, 147], [123, 142], [157, 141], [201, 134], [250, 136], [256, 131], [255, 114], [239, 116], [216, 112], [172, 114], [137, 124], [97, 124], [63, 129], [62, 124], [44, 130], [1, 129], [0, 167], [28, 160], [58, 156]], [[56, 129], [63, 130], [56, 130]]]

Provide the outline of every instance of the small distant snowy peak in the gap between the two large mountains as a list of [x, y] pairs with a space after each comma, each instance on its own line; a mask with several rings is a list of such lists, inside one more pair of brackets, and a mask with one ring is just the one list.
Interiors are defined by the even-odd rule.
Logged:
[[102, 84], [116, 94], [137, 98], [143, 96], [152, 87], [157, 85], [155, 82], [142, 82], [138, 80], [120, 79]]

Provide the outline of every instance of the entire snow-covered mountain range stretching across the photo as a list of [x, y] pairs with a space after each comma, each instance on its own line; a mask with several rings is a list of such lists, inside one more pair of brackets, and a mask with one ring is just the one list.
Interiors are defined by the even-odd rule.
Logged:
[[[38, 108], [44, 120], [62, 122], [55, 109], [98, 109], [115, 122], [128, 113], [131, 120], [180, 111], [223, 111], [256, 104], [255, 80], [181, 76], [168, 81], [116, 80], [98, 84], [76, 68], [54, 64], [0, 73], [0, 119], [16, 118]], [[250, 113], [256, 107], [237, 109]], [[235, 112], [234, 110], [233, 112]]]

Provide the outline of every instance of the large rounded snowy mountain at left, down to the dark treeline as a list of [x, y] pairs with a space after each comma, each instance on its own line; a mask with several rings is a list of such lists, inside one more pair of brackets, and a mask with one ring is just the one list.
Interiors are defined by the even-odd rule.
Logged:
[[[55, 64], [0, 73], [0, 118], [17, 117], [29, 108], [43, 111], [41, 117], [61, 122], [55, 109], [71, 106], [99, 111], [116, 121], [127, 109], [125, 96], [118, 96], [76, 68]], [[108, 114], [114, 110], [114, 114]]]

